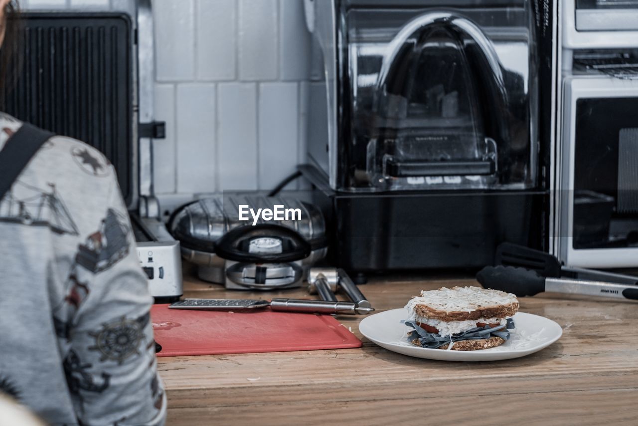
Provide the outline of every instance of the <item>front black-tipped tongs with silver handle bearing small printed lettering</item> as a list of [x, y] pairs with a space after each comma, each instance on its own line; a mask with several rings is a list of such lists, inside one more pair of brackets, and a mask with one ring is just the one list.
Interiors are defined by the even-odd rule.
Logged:
[[477, 280], [483, 287], [516, 296], [534, 296], [544, 291], [586, 296], [603, 296], [616, 299], [638, 300], [635, 285], [614, 284], [602, 281], [572, 280], [566, 278], [543, 277], [537, 271], [512, 266], [486, 266], [477, 273]]

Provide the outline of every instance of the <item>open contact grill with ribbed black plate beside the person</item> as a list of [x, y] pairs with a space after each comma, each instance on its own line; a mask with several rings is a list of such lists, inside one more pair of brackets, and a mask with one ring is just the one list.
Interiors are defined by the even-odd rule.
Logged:
[[[154, 47], [150, 0], [29, 11], [24, 66], [2, 93], [9, 114], [100, 149], [115, 166], [157, 301], [182, 294], [179, 243], [159, 220], [152, 186]], [[149, 255], [152, 252], [153, 255]]]

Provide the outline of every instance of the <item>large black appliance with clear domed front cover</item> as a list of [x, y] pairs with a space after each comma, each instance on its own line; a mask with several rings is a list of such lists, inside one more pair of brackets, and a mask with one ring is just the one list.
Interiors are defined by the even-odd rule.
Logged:
[[323, 54], [309, 164], [349, 271], [477, 267], [545, 248], [551, 3], [306, 2]]

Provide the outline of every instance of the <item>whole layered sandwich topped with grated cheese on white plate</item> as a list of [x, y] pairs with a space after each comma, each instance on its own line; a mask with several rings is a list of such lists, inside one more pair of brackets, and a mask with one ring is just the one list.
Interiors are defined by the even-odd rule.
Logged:
[[406, 309], [412, 328], [408, 341], [416, 346], [475, 351], [500, 346], [514, 328], [519, 302], [511, 293], [480, 287], [442, 287], [422, 291]]

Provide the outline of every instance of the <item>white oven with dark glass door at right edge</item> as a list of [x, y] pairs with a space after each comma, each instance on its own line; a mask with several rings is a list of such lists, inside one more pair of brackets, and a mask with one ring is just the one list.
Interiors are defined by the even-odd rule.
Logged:
[[576, 20], [561, 34], [553, 250], [570, 266], [638, 266], [637, 14], [632, 0], [563, 3]]

